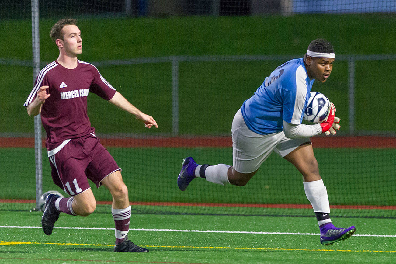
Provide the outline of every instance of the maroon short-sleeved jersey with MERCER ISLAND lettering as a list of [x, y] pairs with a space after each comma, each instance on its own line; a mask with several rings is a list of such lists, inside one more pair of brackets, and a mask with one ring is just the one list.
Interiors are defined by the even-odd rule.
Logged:
[[36, 78], [24, 106], [36, 97], [38, 89], [48, 85], [41, 109], [41, 121], [47, 132], [46, 147], [53, 150], [66, 139], [78, 138], [94, 131], [87, 114], [88, 93], [110, 100], [116, 89], [105, 80], [92, 64], [78, 60], [77, 67], [68, 69], [53, 61]]

